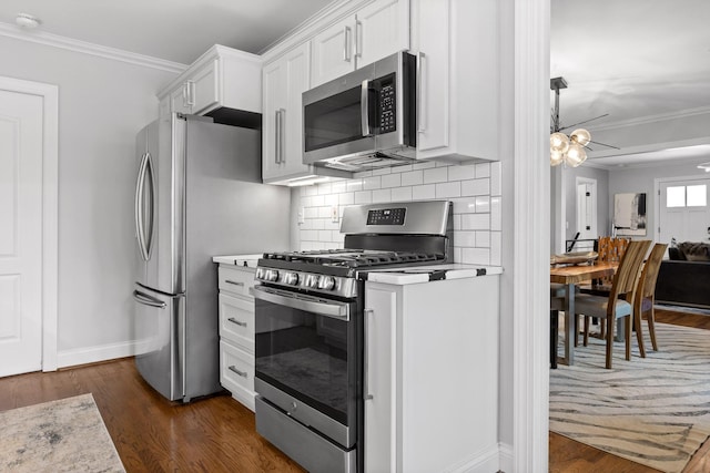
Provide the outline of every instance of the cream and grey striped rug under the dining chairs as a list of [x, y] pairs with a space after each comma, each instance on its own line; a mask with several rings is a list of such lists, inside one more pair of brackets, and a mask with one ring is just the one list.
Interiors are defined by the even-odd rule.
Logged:
[[[605, 342], [550, 370], [550, 430], [663, 472], [681, 472], [710, 435], [710, 331], [656, 323], [660, 351], [631, 361], [623, 343], [605, 364]], [[643, 326], [646, 329], [646, 323]], [[646, 331], [648, 338], [648, 331]]]

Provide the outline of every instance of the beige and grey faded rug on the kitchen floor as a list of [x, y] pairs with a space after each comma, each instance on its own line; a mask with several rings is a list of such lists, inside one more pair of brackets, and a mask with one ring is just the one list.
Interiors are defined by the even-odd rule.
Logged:
[[125, 472], [91, 394], [0, 412], [0, 471]]

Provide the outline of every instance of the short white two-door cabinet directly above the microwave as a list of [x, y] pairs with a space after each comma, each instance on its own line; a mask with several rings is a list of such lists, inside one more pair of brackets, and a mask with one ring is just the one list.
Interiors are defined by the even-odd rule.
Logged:
[[409, 49], [409, 0], [376, 0], [313, 37], [312, 86]]

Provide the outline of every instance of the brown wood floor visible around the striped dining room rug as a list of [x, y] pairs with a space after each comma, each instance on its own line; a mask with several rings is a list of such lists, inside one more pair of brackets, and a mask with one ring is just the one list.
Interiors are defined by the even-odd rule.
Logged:
[[[656, 321], [710, 330], [710, 316], [656, 310]], [[646, 329], [646, 322], [643, 328]], [[661, 347], [659, 347], [661, 348]], [[647, 348], [647, 350], [650, 348]], [[709, 380], [710, 382], [710, 380]], [[605, 453], [550, 432], [550, 473], [657, 473], [658, 470]], [[710, 441], [696, 452], [683, 473], [710, 472]]]

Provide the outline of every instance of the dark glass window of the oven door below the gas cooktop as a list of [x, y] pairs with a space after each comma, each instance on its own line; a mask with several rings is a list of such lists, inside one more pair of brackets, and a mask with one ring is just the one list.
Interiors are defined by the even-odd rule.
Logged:
[[354, 321], [256, 300], [256, 377], [344, 425], [355, 419]]

